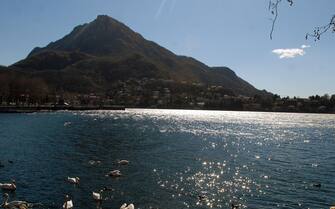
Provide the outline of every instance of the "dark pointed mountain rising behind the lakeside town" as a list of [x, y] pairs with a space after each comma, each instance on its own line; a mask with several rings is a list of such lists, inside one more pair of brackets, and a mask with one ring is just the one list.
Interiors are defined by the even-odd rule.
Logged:
[[236, 95], [269, 94], [227, 67], [209, 67], [178, 56], [106, 15], [75, 27], [45, 47], [34, 48], [9, 68], [41, 79], [55, 91], [72, 93], [104, 93], [118, 81], [153, 78], [222, 86]]

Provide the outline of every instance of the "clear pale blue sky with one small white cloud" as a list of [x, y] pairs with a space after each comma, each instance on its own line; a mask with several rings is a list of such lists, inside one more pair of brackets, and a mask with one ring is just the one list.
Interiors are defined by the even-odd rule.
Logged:
[[306, 32], [329, 22], [334, 0], [283, 1], [270, 40], [268, 0], [0, 0], [0, 65], [106, 14], [178, 55], [227, 66], [281, 96], [335, 94], [335, 34]]

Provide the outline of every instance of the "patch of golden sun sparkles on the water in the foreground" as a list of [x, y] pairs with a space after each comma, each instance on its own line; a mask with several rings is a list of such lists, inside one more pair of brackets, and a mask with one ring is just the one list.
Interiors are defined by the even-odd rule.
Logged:
[[[248, 171], [248, 166], [227, 167], [227, 162], [203, 161], [199, 162], [201, 169], [191, 168], [183, 172], [175, 173], [173, 177], [163, 170], [157, 174], [157, 184], [171, 193], [173, 198], [182, 199], [191, 197], [188, 206], [205, 205], [209, 208], [229, 207], [232, 202], [238, 202], [243, 208], [245, 196], [258, 196], [263, 193], [261, 186], [241, 171]], [[205, 195], [206, 199], [199, 199], [199, 195]]]

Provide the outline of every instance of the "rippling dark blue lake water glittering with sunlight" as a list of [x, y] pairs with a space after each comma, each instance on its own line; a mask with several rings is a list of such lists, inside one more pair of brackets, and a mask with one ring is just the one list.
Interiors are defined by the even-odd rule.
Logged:
[[[130, 164], [119, 166], [119, 159]], [[17, 181], [10, 199], [45, 208], [60, 208], [65, 194], [78, 209], [118, 209], [124, 202], [142, 209], [230, 208], [232, 202], [240, 208], [329, 208], [335, 205], [335, 115], [0, 114], [0, 161], [0, 182]], [[105, 176], [114, 169], [124, 176]], [[67, 176], [80, 177], [80, 185], [68, 184]], [[106, 191], [99, 206], [91, 192], [104, 186], [114, 191]]]

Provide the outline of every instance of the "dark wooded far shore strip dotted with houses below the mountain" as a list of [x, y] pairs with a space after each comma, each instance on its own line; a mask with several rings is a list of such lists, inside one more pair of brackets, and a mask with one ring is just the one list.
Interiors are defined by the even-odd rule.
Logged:
[[[163, 79], [135, 79], [117, 81], [107, 93], [68, 93], [30, 95], [0, 95], [1, 106], [64, 107], [73, 109], [181, 108], [240, 111], [335, 113], [335, 95], [309, 98], [281, 98], [278, 95], [236, 95], [223, 86], [176, 82]], [[75, 108], [77, 107], [77, 108]], [[111, 108], [113, 109], [113, 108]]]

